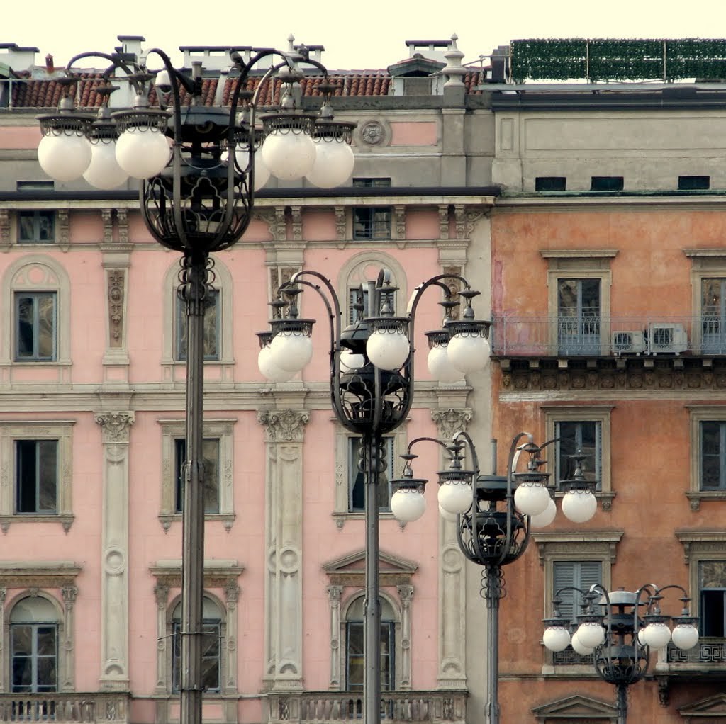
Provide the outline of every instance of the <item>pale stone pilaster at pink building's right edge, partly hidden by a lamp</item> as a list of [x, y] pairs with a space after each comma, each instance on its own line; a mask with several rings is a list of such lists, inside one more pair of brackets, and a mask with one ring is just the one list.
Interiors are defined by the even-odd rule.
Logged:
[[[433, 410], [441, 440], [451, 440], [471, 419], [468, 408]], [[443, 463], [443, 460], [442, 460]], [[465, 557], [457, 542], [456, 523], [439, 517], [439, 673], [441, 689], [466, 688]]]

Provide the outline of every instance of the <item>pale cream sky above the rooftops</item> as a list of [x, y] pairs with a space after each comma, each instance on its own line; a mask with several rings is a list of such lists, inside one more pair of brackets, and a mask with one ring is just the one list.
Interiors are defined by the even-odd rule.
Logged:
[[405, 41], [444, 40], [452, 33], [469, 63], [518, 38], [724, 37], [726, 2], [16, 0], [0, 14], [0, 43], [36, 46], [38, 65], [51, 53], [57, 67], [76, 53], [113, 51], [119, 35], [144, 36], [144, 49], [157, 46], [181, 62], [179, 46], [285, 49], [290, 33], [296, 42], [325, 46], [322, 60], [330, 70], [385, 68], [407, 57]]

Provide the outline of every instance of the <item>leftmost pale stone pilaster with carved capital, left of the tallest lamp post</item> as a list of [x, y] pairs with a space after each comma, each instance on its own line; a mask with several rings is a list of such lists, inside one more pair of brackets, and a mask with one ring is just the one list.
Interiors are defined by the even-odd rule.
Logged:
[[101, 559], [101, 688], [129, 688], [129, 430], [134, 413], [99, 412], [105, 452]]

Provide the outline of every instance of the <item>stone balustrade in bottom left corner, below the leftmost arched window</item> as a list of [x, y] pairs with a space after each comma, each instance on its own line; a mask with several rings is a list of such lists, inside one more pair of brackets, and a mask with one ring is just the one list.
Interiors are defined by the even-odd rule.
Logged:
[[0, 694], [0, 722], [127, 721], [123, 694]]

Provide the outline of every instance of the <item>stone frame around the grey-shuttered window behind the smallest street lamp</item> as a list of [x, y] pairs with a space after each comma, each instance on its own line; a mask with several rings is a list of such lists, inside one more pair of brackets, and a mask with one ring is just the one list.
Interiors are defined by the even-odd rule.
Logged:
[[[600, 583], [609, 590], [611, 569], [623, 534], [623, 530], [532, 531], [531, 537], [537, 543], [539, 552], [539, 565], [544, 572], [542, 618], [552, 617], [555, 561], [600, 561], [603, 577]], [[542, 650], [542, 675], [592, 676], [592, 664], [555, 665], [552, 651], [544, 645]]]

